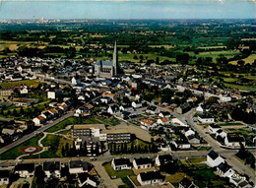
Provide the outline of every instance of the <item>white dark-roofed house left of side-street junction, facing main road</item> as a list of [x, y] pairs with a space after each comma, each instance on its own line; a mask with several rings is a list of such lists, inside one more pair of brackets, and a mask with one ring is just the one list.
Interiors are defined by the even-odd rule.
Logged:
[[73, 160], [69, 162], [69, 173], [84, 173], [89, 172], [93, 168], [93, 165], [83, 160]]

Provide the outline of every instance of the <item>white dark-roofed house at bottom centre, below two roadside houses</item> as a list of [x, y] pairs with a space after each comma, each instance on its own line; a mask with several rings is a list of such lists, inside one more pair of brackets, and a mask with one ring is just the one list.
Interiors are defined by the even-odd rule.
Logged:
[[137, 180], [141, 185], [156, 185], [164, 181], [164, 176], [160, 175], [160, 171], [146, 171], [137, 175]]

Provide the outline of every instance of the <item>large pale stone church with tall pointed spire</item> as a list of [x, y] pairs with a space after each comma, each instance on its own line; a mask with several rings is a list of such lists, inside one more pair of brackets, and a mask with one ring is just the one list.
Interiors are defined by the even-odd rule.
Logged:
[[117, 50], [116, 50], [116, 42], [114, 43], [114, 52], [113, 52], [113, 60], [112, 61], [96, 61], [95, 65], [95, 76], [103, 77], [103, 78], [111, 78], [112, 76], [117, 75]]

